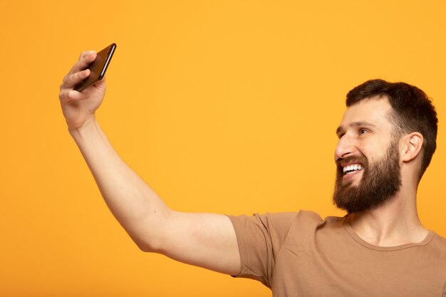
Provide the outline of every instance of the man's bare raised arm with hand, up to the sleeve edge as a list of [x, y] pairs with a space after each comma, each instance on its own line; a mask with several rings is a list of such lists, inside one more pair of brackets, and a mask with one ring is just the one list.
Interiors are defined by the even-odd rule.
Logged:
[[113, 150], [95, 118], [105, 95], [105, 81], [73, 90], [90, 75], [94, 52], [83, 52], [63, 78], [59, 98], [68, 130], [90, 167], [100, 192], [118, 222], [143, 251], [165, 254], [187, 264], [236, 275], [240, 257], [229, 218], [168, 208]]

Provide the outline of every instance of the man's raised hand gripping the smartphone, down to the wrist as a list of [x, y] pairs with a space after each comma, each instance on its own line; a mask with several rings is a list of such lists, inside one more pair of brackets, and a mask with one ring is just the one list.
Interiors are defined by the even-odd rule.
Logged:
[[94, 85], [90, 85], [82, 92], [73, 90], [75, 85], [90, 75], [90, 70], [85, 68], [95, 60], [96, 55], [94, 51], [81, 53], [78, 62], [63, 78], [59, 99], [69, 130], [81, 130], [85, 125], [93, 122], [95, 111], [103, 101], [105, 78]]

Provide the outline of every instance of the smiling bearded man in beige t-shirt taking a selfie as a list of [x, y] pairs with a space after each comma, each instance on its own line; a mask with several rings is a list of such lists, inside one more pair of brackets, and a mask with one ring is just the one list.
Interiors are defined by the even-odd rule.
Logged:
[[82, 53], [63, 79], [63, 115], [105, 202], [142, 251], [254, 278], [274, 296], [446, 296], [446, 239], [425, 229], [416, 210], [437, 135], [422, 90], [370, 80], [348, 93], [333, 194], [346, 217], [187, 214], [169, 209], [111, 147], [95, 119], [105, 82], [73, 90], [95, 56]]

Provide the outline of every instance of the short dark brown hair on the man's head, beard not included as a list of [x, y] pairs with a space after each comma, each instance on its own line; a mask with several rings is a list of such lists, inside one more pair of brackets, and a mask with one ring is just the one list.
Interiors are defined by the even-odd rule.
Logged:
[[432, 160], [437, 147], [437, 112], [425, 92], [408, 83], [388, 83], [385, 80], [368, 80], [347, 94], [346, 105], [351, 106], [361, 100], [378, 97], [388, 98], [393, 109], [391, 118], [395, 132], [399, 135], [420, 132], [424, 137], [422, 144], [422, 163], [420, 178]]

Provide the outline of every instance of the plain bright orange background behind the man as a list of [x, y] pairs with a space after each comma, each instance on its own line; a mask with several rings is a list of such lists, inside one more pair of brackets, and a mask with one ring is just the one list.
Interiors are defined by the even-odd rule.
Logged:
[[433, 98], [418, 195], [446, 236], [445, 1], [1, 1], [0, 295], [271, 296], [139, 251], [108, 211], [58, 103], [83, 50], [118, 44], [98, 118], [172, 208], [331, 205], [348, 90], [403, 80]]

